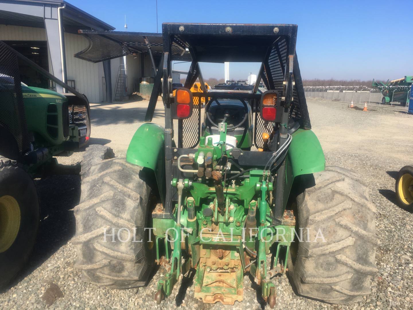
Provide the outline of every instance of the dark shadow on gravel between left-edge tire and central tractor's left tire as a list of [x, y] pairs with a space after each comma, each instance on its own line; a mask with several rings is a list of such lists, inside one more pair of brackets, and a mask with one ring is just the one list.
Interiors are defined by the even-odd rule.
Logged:
[[35, 181], [40, 202], [40, 223], [33, 252], [7, 291], [50, 258], [75, 234], [73, 209], [81, 193], [80, 175], [48, 176]]

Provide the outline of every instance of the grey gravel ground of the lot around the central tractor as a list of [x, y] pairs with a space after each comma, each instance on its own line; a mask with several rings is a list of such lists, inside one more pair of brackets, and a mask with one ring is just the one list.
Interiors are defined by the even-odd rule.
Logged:
[[[138, 103], [95, 105], [92, 143], [107, 144], [117, 155], [126, 153], [135, 129], [143, 119], [146, 101]], [[410, 164], [413, 144], [413, 115], [369, 107], [368, 112], [349, 109], [347, 104], [309, 100], [314, 132], [325, 151], [328, 165], [354, 170], [370, 186], [370, 197], [377, 206], [376, 264], [379, 272], [372, 281], [372, 293], [363, 302], [330, 305], [294, 294], [286, 276], [275, 278], [276, 309], [411, 309], [413, 308], [412, 211], [395, 205], [394, 177]], [[160, 106], [160, 105], [158, 105]], [[163, 112], [157, 109], [154, 120], [162, 124]], [[64, 164], [76, 164], [81, 152], [58, 157]], [[154, 270], [146, 287], [129, 290], [105, 289], [81, 281], [74, 269], [76, 252], [70, 239], [74, 236], [71, 210], [79, 201], [79, 176], [52, 176], [37, 180], [41, 201], [38, 241], [31, 261], [19, 277], [0, 294], [2, 309], [46, 308], [42, 299], [50, 292], [57, 298], [48, 309], [260, 309], [264, 308], [256, 286], [244, 277], [244, 301], [234, 306], [203, 304], [193, 298], [192, 277], [184, 277], [173, 294], [157, 306], [152, 299], [163, 269]], [[56, 286], [52, 285], [55, 284]], [[49, 289], [49, 287], [51, 288]], [[53, 299], [53, 298], [52, 298]], [[53, 300], [51, 300], [53, 301]], [[268, 307], [267, 307], [268, 308]]]

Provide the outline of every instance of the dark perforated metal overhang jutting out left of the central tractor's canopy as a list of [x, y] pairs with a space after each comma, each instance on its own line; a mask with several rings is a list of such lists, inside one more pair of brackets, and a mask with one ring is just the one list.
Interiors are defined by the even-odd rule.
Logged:
[[[79, 30], [78, 33], [88, 38], [90, 44], [74, 56], [90, 62], [148, 53], [147, 42], [154, 58], [159, 59], [163, 52], [162, 33], [93, 30]], [[174, 60], [191, 60], [189, 52], [178, 43], [173, 44], [172, 55]]]

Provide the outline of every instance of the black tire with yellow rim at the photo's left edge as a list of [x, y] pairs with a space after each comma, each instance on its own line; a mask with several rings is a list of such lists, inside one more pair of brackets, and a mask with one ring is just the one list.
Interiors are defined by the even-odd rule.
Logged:
[[36, 241], [39, 200], [31, 177], [0, 157], [0, 289], [24, 266]]

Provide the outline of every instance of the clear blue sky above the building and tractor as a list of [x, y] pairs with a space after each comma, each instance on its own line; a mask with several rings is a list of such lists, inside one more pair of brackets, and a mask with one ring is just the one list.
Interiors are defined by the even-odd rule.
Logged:
[[[155, 0], [69, 0], [123, 31], [156, 32]], [[413, 1], [158, 0], [163, 22], [297, 24], [303, 79], [396, 79], [413, 75]], [[183, 70], [186, 64], [176, 64]], [[202, 65], [204, 78], [223, 77], [223, 64]], [[230, 64], [246, 79], [257, 64]]]

